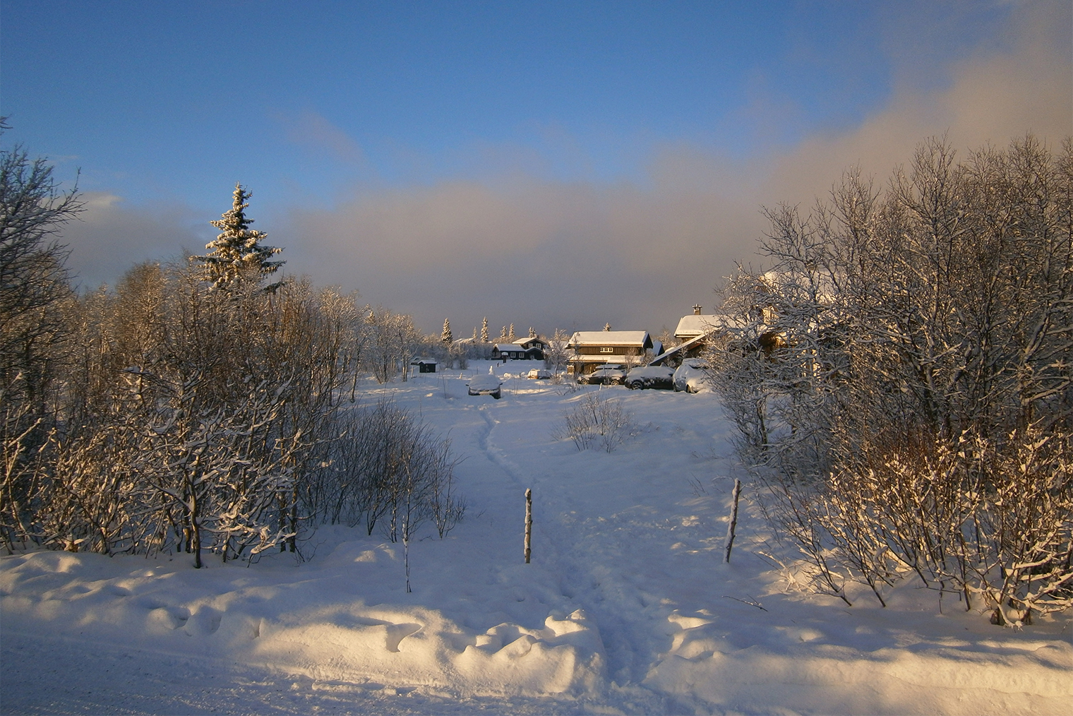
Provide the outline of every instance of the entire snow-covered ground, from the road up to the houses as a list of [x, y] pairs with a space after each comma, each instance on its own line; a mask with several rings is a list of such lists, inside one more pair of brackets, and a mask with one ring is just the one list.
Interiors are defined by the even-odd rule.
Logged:
[[[597, 390], [636, 437], [553, 438]], [[495, 400], [459, 371], [364, 399], [382, 393], [465, 456], [466, 518], [411, 544], [412, 594], [402, 545], [362, 526], [321, 528], [300, 564], [3, 557], [0, 712], [1073, 712], [1069, 615], [1015, 631], [912, 584], [887, 609], [802, 594], [759, 555], [788, 547], [745, 500], [721, 564], [735, 466], [710, 393], [510, 378]]]

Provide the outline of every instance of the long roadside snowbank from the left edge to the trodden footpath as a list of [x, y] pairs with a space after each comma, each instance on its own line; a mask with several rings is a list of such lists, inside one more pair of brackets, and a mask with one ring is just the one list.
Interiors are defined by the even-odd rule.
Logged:
[[[325, 566], [391, 567], [387, 545], [344, 543]], [[116, 561], [129, 567], [116, 576]], [[149, 568], [145, 566], [148, 564]], [[323, 599], [324, 579], [255, 585], [240, 566], [194, 571], [139, 558], [35, 552], [4, 560], [5, 629], [201, 655], [320, 682], [383, 683], [466, 696], [586, 696], [604, 687], [605, 657], [583, 610], [541, 629], [459, 625], [441, 610]], [[103, 579], [102, 579], [103, 578]], [[206, 589], [206, 581], [211, 587]], [[321, 584], [317, 584], [321, 582]], [[161, 588], [165, 586], [167, 588]]]

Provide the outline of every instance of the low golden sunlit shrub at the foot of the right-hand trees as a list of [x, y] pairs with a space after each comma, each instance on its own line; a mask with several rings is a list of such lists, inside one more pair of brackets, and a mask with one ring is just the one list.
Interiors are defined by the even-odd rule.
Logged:
[[849, 603], [855, 581], [885, 605], [886, 586], [915, 576], [996, 624], [1029, 623], [1073, 605], [1073, 439], [1008, 437], [870, 445], [870, 467], [805, 483], [769, 476], [766, 508], [817, 591]]

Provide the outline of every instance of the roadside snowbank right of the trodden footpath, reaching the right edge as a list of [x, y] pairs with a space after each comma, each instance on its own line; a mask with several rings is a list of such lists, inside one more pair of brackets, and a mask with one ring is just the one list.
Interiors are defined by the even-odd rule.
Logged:
[[709, 705], [934, 714], [956, 701], [961, 713], [1013, 714], [1062, 713], [1073, 703], [1073, 659], [1054, 643], [1000, 655], [949, 639], [866, 651], [824, 643], [827, 635], [810, 627], [779, 628], [756, 643], [743, 638], [740, 624], [679, 614], [668, 622], [671, 648], [645, 685]]

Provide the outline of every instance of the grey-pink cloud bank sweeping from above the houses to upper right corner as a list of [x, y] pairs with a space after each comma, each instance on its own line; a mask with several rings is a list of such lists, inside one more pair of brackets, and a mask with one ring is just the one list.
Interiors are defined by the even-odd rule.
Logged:
[[[327, 208], [294, 206], [258, 227], [286, 248], [290, 272], [357, 289], [368, 302], [413, 313], [425, 331], [450, 318], [456, 334], [469, 335], [487, 316], [494, 331], [609, 322], [659, 332], [694, 303], [710, 307], [712, 287], [735, 260], [756, 263], [762, 206], [809, 204], [847, 166], [884, 181], [916, 144], [944, 133], [959, 150], [1004, 146], [1026, 132], [1057, 149], [1073, 130], [1071, 12], [1065, 3], [1018, 6], [1000, 36], [930, 69], [927, 83], [912, 81], [928, 68], [906, 52], [888, 101], [857, 126], [749, 160], [688, 143], [653, 145], [644, 180], [621, 182], [558, 180], [525, 162], [500, 162], [483, 178], [355, 186]], [[362, 160], [357, 144], [317, 115], [289, 131], [341, 160]], [[262, 216], [256, 206], [251, 213]], [[208, 218], [93, 206], [82, 233], [94, 255], [76, 250], [74, 259], [79, 273], [95, 275], [117, 258], [127, 266], [158, 249], [200, 249], [203, 235], [191, 227]]]

